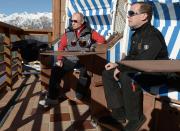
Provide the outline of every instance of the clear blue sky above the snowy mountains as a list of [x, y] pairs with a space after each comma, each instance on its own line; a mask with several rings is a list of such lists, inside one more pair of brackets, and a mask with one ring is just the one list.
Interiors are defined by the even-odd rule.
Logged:
[[52, 0], [0, 0], [0, 13], [51, 12]]

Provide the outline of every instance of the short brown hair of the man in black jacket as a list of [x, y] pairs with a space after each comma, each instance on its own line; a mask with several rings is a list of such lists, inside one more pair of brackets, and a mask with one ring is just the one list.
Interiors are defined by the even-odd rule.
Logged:
[[[133, 4], [140, 4], [139, 13], [147, 13], [147, 19], [148, 21], [151, 21], [152, 19], [152, 5], [147, 2], [136, 2]], [[132, 5], [133, 5], [132, 4]]]

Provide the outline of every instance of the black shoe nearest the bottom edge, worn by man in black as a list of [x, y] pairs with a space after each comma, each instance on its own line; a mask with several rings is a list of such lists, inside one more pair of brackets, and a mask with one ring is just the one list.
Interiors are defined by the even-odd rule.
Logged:
[[124, 131], [138, 131], [138, 129], [146, 121], [146, 117], [142, 115], [139, 120], [130, 120], [125, 126]]

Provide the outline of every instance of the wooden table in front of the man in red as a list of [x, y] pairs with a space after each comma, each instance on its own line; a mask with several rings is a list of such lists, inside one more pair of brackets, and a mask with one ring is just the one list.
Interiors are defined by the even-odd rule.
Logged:
[[80, 63], [84, 64], [87, 69], [93, 73], [101, 74], [99, 68], [104, 69], [106, 64], [106, 52], [105, 51], [95, 51], [95, 52], [81, 52], [81, 51], [45, 51], [41, 52], [41, 67], [51, 68], [52, 58], [51, 56], [77, 56], [80, 59]]

